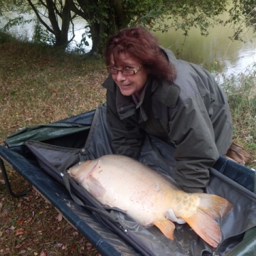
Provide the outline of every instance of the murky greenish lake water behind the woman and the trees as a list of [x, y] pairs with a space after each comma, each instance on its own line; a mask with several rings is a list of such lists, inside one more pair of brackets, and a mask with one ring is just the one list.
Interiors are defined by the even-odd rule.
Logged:
[[[10, 15], [15, 16], [13, 12]], [[26, 14], [25, 18], [33, 18], [33, 14]], [[4, 20], [1, 21], [0, 28], [4, 26], [4, 23]], [[82, 18], [75, 21], [75, 41], [71, 44], [71, 48], [75, 47], [75, 43], [80, 43], [85, 25], [86, 21]], [[11, 33], [31, 40], [33, 26], [34, 23], [14, 26], [11, 28]], [[228, 36], [233, 35], [233, 29], [229, 26], [218, 25], [210, 28], [209, 31], [208, 36], [201, 36], [198, 29], [192, 28], [186, 38], [182, 31], [174, 31], [174, 29], [166, 33], [158, 32], [155, 35], [159, 43], [172, 50], [177, 58], [202, 65], [208, 70], [217, 70], [225, 76], [247, 73], [250, 69], [255, 70], [255, 33], [247, 31], [243, 38], [245, 42], [241, 42], [230, 41]], [[92, 41], [89, 40], [86, 50], [89, 51], [91, 47]]]

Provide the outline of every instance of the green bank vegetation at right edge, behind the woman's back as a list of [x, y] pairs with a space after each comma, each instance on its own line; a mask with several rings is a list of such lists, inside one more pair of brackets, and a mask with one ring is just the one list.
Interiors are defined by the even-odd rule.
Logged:
[[224, 78], [233, 117], [233, 141], [256, 154], [256, 64], [245, 73]]

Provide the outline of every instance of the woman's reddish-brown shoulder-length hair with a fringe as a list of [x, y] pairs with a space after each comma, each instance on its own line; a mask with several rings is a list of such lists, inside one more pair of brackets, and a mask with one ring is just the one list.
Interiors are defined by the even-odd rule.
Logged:
[[121, 64], [120, 53], [125, 53], [139, 60], [144, 68], [156, 78], [165, 79], [169, 82], [173, 82], [176, 78], [176, 70], [159, 47], [156, 37], [142, 26], [125, 28], [107, 40], [105, 46], [106, 65], [110, 65], [110, 55], [112, 54], [114, 62]]

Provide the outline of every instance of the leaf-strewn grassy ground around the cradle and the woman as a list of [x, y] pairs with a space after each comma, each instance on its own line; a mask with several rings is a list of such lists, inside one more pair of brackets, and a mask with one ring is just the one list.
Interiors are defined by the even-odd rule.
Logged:
[[[23, 127], [95, 109], [105, 102], [101, 83], [106, 77], [102, 60], [0, 34], [0, 144]], [[223, 87], [233, 114], [233, 141], [256, 159], [255, 72], [225, 78]], [[15, 192], [29, 187], [6, 166]], [[250, 166], [256, 169], [255, 162]], [[0, 175], [0, 255], [100, 255], [34, 189], [11, 198], [1, 183]]]

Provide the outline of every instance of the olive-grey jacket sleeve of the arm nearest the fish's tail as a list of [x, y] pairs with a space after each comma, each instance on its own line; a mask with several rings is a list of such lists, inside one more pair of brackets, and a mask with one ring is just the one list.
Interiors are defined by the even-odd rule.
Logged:
[[188, 98], [171, 115], [169, 139], [176, 146], [176, 181], [187, 192], [203, 192], [208, 169], [219, 158], [213, 125], [200, 95]]

